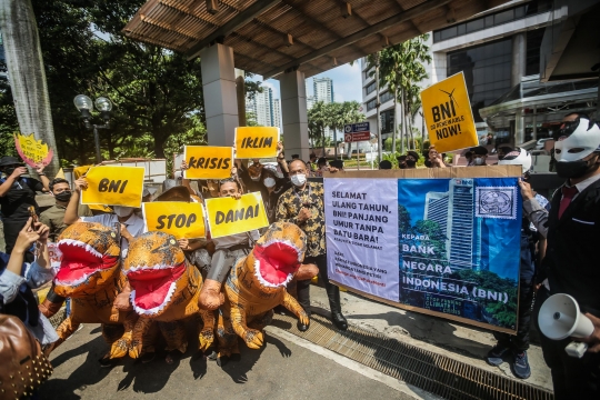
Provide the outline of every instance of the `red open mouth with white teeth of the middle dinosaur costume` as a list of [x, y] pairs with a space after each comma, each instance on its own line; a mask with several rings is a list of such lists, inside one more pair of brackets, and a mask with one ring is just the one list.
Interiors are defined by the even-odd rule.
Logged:
[[124, 271], [131, 286], [131, 303], [139, 314], [161, 312], [186, 272], [186, 262], [178, 266], [134, 267]]

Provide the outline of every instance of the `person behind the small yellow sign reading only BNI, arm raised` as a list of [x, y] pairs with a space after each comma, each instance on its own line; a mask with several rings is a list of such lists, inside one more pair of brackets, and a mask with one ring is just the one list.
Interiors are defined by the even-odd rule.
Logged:
[[113, 213], [99, 214], [94, 217], [79, 217], [79, 199], [81, 191], [88, 188], [88, 181], [86, 178], [79, 178], [76, 180], [74, 186], [76, 190], [71, 196], [71, 200], [69, 201], [67, 211], [64, 212], [64, 223], [72, 224], [77, 221], [98, 222], [107, 228], [113, 229], [114, 226], [118, 224], [121, 233], [121, 256], [124, 258], [127, 256], [127, 250], [129, 249], [129, 242], [144, 231], [143, 219], [133, 212], [136, 211], [133, 207], [123, 206], [113, 206]]

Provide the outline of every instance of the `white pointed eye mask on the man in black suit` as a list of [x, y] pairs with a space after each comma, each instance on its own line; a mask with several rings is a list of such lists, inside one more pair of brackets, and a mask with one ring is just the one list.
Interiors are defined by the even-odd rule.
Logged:
[[579, 126], [571, 134], [562, 136], [554, 142], [554, 158], [558, 162], [579, 161], [599, 150], [599, 146], [598, 124], [594, 123], [590, 128], [590, 121], [580, 118]]

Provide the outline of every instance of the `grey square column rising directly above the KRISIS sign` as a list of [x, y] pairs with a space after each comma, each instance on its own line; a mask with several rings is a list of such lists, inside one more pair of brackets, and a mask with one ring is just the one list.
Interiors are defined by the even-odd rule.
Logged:
[[233, 49], [214, 44], [200, 52], [208, 143], [233, 146], [238, 127], [238, 100]]

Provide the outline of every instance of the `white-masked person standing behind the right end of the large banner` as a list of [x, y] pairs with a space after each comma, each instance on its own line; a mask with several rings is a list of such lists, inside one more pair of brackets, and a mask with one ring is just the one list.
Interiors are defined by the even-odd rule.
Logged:
[[[521, 179], [529, 178], [531, 169], [531, 156], [524, 149], [506, 149], [504, 157], [498, 164], [521, 166]], [[536, 201], [548, 204], [540, 194], [534, 196]], [[536, 227], [527, 219], [523, 212], [521, 224], [521, 262], [519, 268], [519, 316], [517, 323], [517, 334], [510, 336], [502, 332], [493, 332], [498, 340], [497, 344], [486, 356], [486, 361], [494, 367], [510, 359], [512, 373], [520, 379], [531, 376], [531, 368], [527, 357], [529, 349], [529, 330], [531, 328], [531, 303], [533, 301], [533, 278], [536, 276], [536, 248], [541, 246], [546, 238], [541, 236]]]

